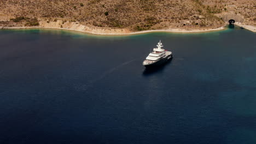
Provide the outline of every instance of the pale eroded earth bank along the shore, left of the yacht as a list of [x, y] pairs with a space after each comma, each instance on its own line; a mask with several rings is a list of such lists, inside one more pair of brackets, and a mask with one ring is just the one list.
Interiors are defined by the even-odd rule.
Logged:
[[104, 28], [104, 27], [94, 27], [94, 26], [85, 26], [79, 22], [69, 22], [69, 21], [47, 21], [39, 20], [40, 27], [43, 28], [61, 28], [69, 29], [73, 31], [80, 31], [92, 34], [126, 34], [131, 33], [129, 29], [126, 28]]

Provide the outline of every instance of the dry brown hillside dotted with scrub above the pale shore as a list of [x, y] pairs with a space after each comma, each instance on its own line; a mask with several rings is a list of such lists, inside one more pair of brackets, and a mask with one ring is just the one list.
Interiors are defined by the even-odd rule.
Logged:
[[[1, 0], [0, 17], [19, 17], [22, 20], [16, 25], [36, 26], [34, 18], [43, 18], [142, 31], [218, 27], [224, 24], [219, 15], [228, 12], [241, 14], [249, 25], [255, 25], [255, 5], [254, 0]], [[1, 23], [10, 25], [6, 21]]]

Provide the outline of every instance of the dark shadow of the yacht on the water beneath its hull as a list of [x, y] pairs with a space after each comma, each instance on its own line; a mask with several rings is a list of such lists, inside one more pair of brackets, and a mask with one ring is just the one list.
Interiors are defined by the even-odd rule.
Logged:
[[145, 68], [144, 71], [143, 71], [143, 75], [144, 76], [150, 76], [150, 75], [153, 75], [153, 74], [161, 73], [165, 69], [165, 67], [168, 67], [168, 65], [170, 66], [170, 64], [172, 62], [172, 59], [173, 58], [169, 59], [167, 62], [165, 62], [161, 65], [151, 67], [151, 68]]

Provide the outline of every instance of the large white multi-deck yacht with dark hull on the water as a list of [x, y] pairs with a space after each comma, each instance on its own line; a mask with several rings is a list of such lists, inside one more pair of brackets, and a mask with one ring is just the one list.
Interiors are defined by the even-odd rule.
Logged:
[[171, 51], [167, 51], [161, 48], [163, 47], [161, 40], [156, 46], [158, 48], [154, 48], [153, 52], [150, 52], [146, 60], [143, 61], [143, 65], [146, 68], [161, 65], [173, 57]]

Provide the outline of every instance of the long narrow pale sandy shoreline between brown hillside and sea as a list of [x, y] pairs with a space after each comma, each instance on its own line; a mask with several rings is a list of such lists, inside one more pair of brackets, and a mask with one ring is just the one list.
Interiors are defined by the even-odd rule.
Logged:
[[[145, 34], [145, 33], [154, 33], [154, 32], [170, 32], [170, 33], [203, 33], [203, 32], [212, 32], [212, 31], [222, 31], [226, 29], [226, 24], [218, 27], [218, 28], [201, 28], [201, 29], [183, 29], [183, 28], [167, 28], [167, 29], [155, 29], [155, 30], [148, 30], [148, 31], [138, 31], [132, 32], [126, 28], [102, 28], [102, 27], [92, 27], [92, 26], [85, 26], [78, 22], [66, 22], [63, 27], [61, 28], [62, 21], [57, 22], [50, 22], [46, 23], [44, 21], [40, 22], [40, 26], [34, 27], [0, 27], [0, 29], [62, 29], [67, 31], [76, 31], [88, 34], [95, 34], [95, 35], [136, 35], [136, 34]], [[256, 28], [253, 26], [242, 25], [241, 23], [236, 23], [237, 26], [243, 26], [245, 29], [249, 31], [256, 32]]]

